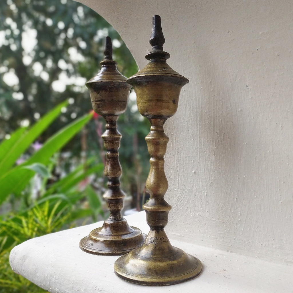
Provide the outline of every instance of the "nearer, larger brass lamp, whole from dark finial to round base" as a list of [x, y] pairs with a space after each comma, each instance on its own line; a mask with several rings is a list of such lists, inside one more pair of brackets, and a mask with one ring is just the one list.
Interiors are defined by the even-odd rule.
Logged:
[[149, 63], [127, 79], [137, 94], [139, 112], [151, 122], [151, 131], [146, 137], [151, 156], [146, 188], [151, 197], [143, 206], [151, 229], [143, 246], [118, 258], [114, 270], [122, 279], [143, 285], [180, 283], [196, 277], [202, 270], [200, 260], [173, 247], [164, 231], [171, 206], [164, 200], [168, 189], [164, 154], [169, 138], [163, 125], [176, 113], [180, 90], [188, 83], [188, 79], [166, 63], [170, 55], [163, 51], [164, 42], [161, 18], [154, 16], [152, 51], [146, 55]]

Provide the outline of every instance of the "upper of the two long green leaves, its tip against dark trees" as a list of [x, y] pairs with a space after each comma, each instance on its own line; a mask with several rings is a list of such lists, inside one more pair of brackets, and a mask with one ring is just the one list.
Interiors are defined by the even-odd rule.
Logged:
[[16, 160], [23, 154], [23, 152], [39, 137], [39, 135], [46, 130], [46, 128], [59, 116], [61, 108], [67, 105], [67, 101], [57, 105], [53, 110], [42, 117], [35, 123], [28, 132], [24, 133], [18, 140], [15, 140], [5, 157], [0, 161], [0, 177], [5, 176], [5, 173], [13, 166]]

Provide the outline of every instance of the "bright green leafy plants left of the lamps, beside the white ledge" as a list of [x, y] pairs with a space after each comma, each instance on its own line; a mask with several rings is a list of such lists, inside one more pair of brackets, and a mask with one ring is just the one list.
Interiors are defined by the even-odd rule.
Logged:
[[18, 128], [0, 144], [0, 293], [46, 292], [12, 271], [9, 253], [13, 246], [70, 228], [77, 220], [92, 217], [97, 221], [104, 217], [101, 188], [95, 183], [103, 176], [103, 163], [89, 159], [61, 177], [56, 171], [62, 156], [57, 151], [86, 125], [92, 114], [64, 126], [27, 159], [16, 162], [59, 117], [66, 103], [57, 105], [32, 127]]

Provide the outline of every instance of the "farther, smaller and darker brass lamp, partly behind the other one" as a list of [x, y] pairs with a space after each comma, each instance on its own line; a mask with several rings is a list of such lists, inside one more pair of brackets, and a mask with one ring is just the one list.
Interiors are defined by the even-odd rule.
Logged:
[[100, 63], [100, 72], [86, 83], [90, 90], [93, 110], [104, 117], [106, 131], [102, 137], [106, 154], [104, 174], [108, 178], [108, 190], [103, 195], [107, 202], [110, 217], [102, 227], [81, 239], [79, 247], [88, 253], [99, 255], [122, 255], [142, 246], [145, 235], [127, 224], [121, 215], [124, 192], [120, 189], [122, 169], [118, 158], [121, 134], [117, 131], [116, 121], [127, 107], [131, 86], [126, 77], [116, 68], [112, 59], [112, 42], [106, 38], [105, 59]]

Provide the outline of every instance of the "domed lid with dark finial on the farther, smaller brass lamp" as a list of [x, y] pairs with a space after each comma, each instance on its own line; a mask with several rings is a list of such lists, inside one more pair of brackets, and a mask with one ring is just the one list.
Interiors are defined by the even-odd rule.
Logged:
[[91, 84], [96, 82], [125, 82], [126, 77], [123, 76], [116, 68], [117, 62], [112, 59], [112, 41], [110, 37], [106, 37], [105, 44], [105, 59], [100, 62], [102, 68], [99, 73], [94, 76], [92, 79], [86, 82], [86, 86], [91, 88]]

